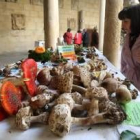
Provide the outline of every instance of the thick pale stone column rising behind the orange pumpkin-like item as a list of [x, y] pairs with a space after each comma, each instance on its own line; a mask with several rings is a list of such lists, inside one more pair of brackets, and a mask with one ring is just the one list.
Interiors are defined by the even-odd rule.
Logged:
[[56, 49], [59, 37], [58, 0], [44, 0], [45, 47]]

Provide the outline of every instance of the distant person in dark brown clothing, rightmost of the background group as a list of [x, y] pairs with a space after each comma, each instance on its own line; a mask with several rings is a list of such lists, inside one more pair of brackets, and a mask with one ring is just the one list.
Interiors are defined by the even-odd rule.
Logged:
[[95, 46], [98, 49], [98, 45], [99, 45], [99, 33], [97, 32], [97, 27], [94, 27], [91, 35], [91, 46]]

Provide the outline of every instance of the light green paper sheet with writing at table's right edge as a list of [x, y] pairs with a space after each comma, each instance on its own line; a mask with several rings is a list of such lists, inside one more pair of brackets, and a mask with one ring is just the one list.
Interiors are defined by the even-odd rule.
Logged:
[[131, 101], [124, 106], [127, 119], [124, 124], [140, 126], [140, 102]]

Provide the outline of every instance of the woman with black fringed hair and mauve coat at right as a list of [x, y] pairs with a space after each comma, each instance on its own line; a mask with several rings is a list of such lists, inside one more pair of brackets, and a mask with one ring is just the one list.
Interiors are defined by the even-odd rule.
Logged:
[[118, 14], [126, 32], [121, 52], [121, 72], [140, 90], [140, 5], [125, 7]]

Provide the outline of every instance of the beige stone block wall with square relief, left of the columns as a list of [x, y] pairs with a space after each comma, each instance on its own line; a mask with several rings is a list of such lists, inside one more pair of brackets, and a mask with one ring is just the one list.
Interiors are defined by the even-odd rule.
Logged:
[[43, 39], [41, 2], [0, 0], [0, 54], [33, 49], [34, 42]]

